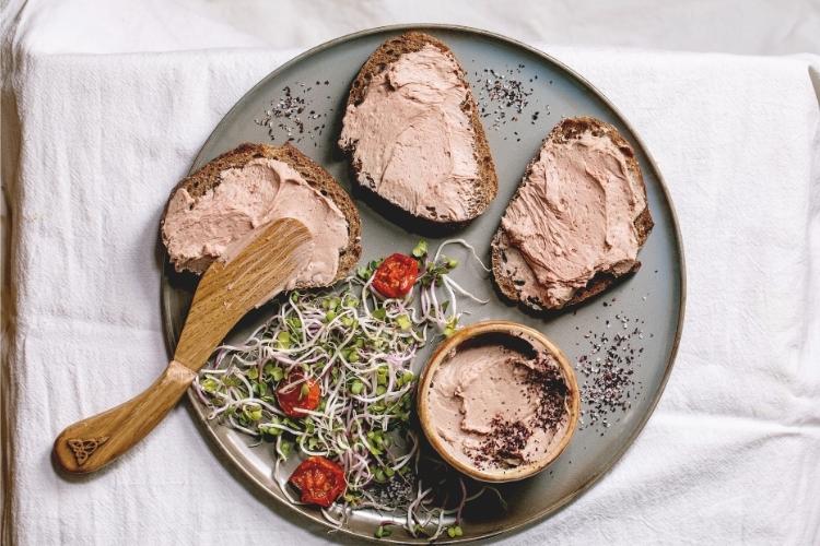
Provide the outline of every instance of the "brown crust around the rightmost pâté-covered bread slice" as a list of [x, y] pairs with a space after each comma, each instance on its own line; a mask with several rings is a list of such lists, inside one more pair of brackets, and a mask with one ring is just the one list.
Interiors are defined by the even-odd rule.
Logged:
[[[557, 124], [552, 129], [552, 131], [550, 131], [550, 133], [541, 143], [541, 146], [539, 147], [539, 153], [536, 154], [536, 156], [527, 165], [527, 169], [524, 174], [524, 177], [522, 178], [522, 185], [524, 183], [524, 181], [526, 181], [529, 178], [530, 174], [532, 173], [532, 168], [535, 164], [538, 162], [540, 150], [543, 149], [543, 146], [546, 146], [550, 142], [555, 142], [555, 143], [569, 142], [573, 139], [576, 139], [579, 134], [587, 132], [587, 131], [591, 132], [595, 136], [608, 138], [612, 141], [612, 143], [616, 146], [618, 146], [618, 149], [623, 154], [624, 159], [626, 161], [626, 167], [630, 169], [631, 175], [634, 177], [634, 179], [641, 182], [641, 188], [643, 189], [644, 197], [645, 197], [646, 183], [644, 182], [644, 178], [641, 173], [641, 166], [637, 163], [637, 158], [635, 157], [635, 153], [632, 150], [632, 146], [629, 144], [629, 142], [626, 142], [626, 140], [621, 135], [620, 132], [618, 132], [618, 129], [616, 129], [613, 126], [605, 121], [601, 121], [597, 118], [593, 118], [588, 116], [565, 118], [561, 120], [561, 122]], [[516, 190], [515, 195], [513, 195], [513, 199], [516, 199], [518, 197], [518, 192], [520, 191], [522, 185], [518, 186], [518, 190]], [[644, 242], [646, 242], [646, 238], [649, 236], [649, 233], [652, 232], [652, 228], [654, 226], [652, 214], [649, 214], [648, 200], [646, 201], [646, 207], [643, 211], [641, 211], [641, 214], [639, 214], [639, 216], [635, 218], [634, 225], [635, 225], [635, 230], [637, 233], [639, 247], [643, 247]], [[520, 299], [518, 295], [518, 290], [515, 285], [515, 278], [504, 276], [504, 274], [502, 273], [502, 265], [504, 261], [504, 256], [503, 256], [504, 251], [502, 248], [502, 244], [504, 242], [504, 237], [505, 237], [504, 230], [502, 229], [501, 225], [499, 225], [499, 228], [495, 232], [495, 235], [493, 236], [492, 242], [490, 245], [493, 281], [494, 281], [495, 287], [508, 301], [519, 304], [536, 312], [551, 312], [551, 311], [555, 311], [559, 309], [564, 309], [567, 307], [575, 306], [577, 304], [581, 304], [582, 301], [586, 301], [587, 299], [594, 296], [597, 296], [601, 292], [612, 286], [620, 278], [623, 278], [632, 273], [635, 273], [639, 269], [641, 269], [641, 262], [635, 261], [633, 266], [628, 272], [622, 273], [622, 274], [617, 274], [611, 269], [598, 271], [593, 276], [593, 278], [589, 280], [586, 286], [576, 290], [572, 299], [570, 299], [562, 306], [551, 307], [547, 305], [547, 302], [541, 301], [541, 300], [538, 300], [538, 301], [523, 300]]]

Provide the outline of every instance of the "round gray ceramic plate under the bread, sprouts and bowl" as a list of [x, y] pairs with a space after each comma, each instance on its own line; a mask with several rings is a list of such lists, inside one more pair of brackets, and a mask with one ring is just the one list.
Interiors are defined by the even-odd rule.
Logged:
[[[489, 114], [484, 118], [484, 127], [499, 173], [499, 195], [483, 216], [457, 234], [471, 242], [485, 260], [489, 258], [490, 238], [527, 163], [544, 135], [564, 116], [600, 118], [614, 124], [632, 143], [643, 169], [649, 209], [655, 219], [655, 228], [640, 256], [643, 266], [637, 274], [575, 311], [547, 319], [530, 317], [503, 302], [483, 272], [471, 264], [462, 252], [455, 249], [448, 252], [464, 264], [457, 270], [456, 280], [480, 297], [490, 299], [488, 305], [469, 307], [472, 314], [466, 317], [467, 322], [506, 319], [529, 324], [563, 347], [571, 360], [581, 360], [578, 366], [585, 366], [587, 370], [590, 367], [596, 369], [595, 359], [605, 354], [616, 333], [630, 334], [619, 351], [634, 352], [633, 363], [628, 366], [634, 369], [634, 373], [628, 388], [622, 390], [629, 406], [608, 414], [607, 424], [602, 420], [595, 425], [587, 424], [546, 472], [517, 484], [502, 486], [508, 501], [507, 510], [483, 505], [468, 511], [462, 524], [465, 535], [459, 538], [466, 541], [515, 530], [549, 515], [583, 492], [623, 455], [652, 414], [672, 366], [683, 319], [683, 253], [672, 205], [660, 174], [626, 120], [589, 83], [560, 61], [502, 36], [449, 26], [414, 28], [429, 32], [452, 47], [469, 74], [480, 106]], [[285, 94], [284, 88], [290, 87], [292, 96], [306, 102], [302, 115], [305, 132], [298, 133], [295, 124], [290, 123], [295, 128], [294, 138], [301, 138], [295, 144], [350, 188], [347, 161], [336, 146], [349, 85], [382, 41], [406, 29], [408, 27], [377, 28], [338, 38], [280, 67], [250, 90], [224, 117], [202, 146], [191, 169], [199, 168], [245, 141], [273, 140], [283, 143], [286, 131], [278, 127], [277, 121], [270, 130], [257, 121], [263, 119], [266, 110], [271, 108], [271, 102], [278, 102]], [[520, 114], [514, 107], [489, 98], [484, 88], [488, 81], [492, 85], [496, 79], [501, 80], [501, 75], [505, 76], [503, 82], [522, 82], [526, 93], [531, 88]], [[311, 119], [312, 110], [315, 119]], [[496, 122], [502, 110], [504, 118]], [[367, 204], [361, 201], [358, 204], [362, 215], [364, 260], [394, 251], [407, 252], [419, 240], [418, 235], [407, 233], [401, 226], [375, 213]], [[430, 240], [431, 248], [435, 248], [437, 240]], [[192, 289], [190, 280], [179, 278], [166, 268], [162, 283], [162, 306], [169, 347], [176, 345]], [[621, 320], [624, 317], [629, 321], [625, 327]], [[243, 337], [262, 319], [263, 309], [261, 313], [248, 317], [232, 337]], [[593, 343], [600, 335], [606, 335], [609, 341], [604, 349], [594, 353]], [[426, 354], [415, 361], [417, 368], [423, 366]], [[584, 363], [584, 357], [589, 360]], [[578, 373], [578, 381], [582, 385], [586, 382], [591, 387], [606, 387], [600, 370], [590, 372], [589, 377]], [[229, 464], [236, 465], [250, 482], [269, 494], [271, 502], [291, 506], [274, 482], [270, 450], [265, 446], [249, 448], [249, 438], [208, 422], [203, 407], [194, 396], [190, 400], [196, 414], [203, 422], [203, 428], [224, 453]], [[605, 410], [607, 407], [605, 404]], [[582, 418], [588, 423], [593, 410], [589, 400], [584, 402], [582, 408], [586, 411], [586, 416]], [[309, 507], [293, 509], [324, 522], [321, 514]], [[362, 538], [372, 538], [379, 520], [375, 513], [356, 512], [344, 531]], [[408, 541], [411, 537], [398, 529], [390, 539]]]

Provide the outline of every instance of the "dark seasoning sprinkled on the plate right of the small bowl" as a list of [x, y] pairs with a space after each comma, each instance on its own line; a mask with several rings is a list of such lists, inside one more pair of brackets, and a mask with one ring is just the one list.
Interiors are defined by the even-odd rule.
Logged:
[[[617, 301], [618, 298], [611, 298], [602, 305], [611, 308]], [[600, 317], [596, 317], [596, 320], [600, 321]], [[585, 344], [576, 343], [584, 347], [584, 354], [575, 365], [577, 372], [584, 377], [578, 430], [593, 428], [604, 436], [643, 393], [644, 385], [635, 379], [635, 370], [641, 367], [644, 353], [644, 324], [645, 321], [639, 317], [618, 312], [614, 317], [605, 318], [600, 331], [588, 330], [584, 334]], [[576, 330], [579, 328], [576, 327]]]

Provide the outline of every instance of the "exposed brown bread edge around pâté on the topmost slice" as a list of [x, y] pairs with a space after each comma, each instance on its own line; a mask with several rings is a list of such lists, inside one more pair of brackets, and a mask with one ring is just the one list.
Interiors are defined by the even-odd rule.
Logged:
[[[377, 192], [373, 185], [372, 174], [364, 171], [361, 162], [354, 158], [359, 141], [340, 141], [340, 146], [343, 151], [350, 154], [351, 167], [355, 175], [355, 179], [359, 182], [359, 187], [364, 190], [365, 197], [375, 197], [377, 199], [377, 205], [380, 204], [383, 207], [387, 206], [389, 212], [401, 210], [409, 216], [409, 219], [415, 219], [422, 224], [449, 225], [449, 227], [454, 228], [461, 227], [487, 210], [490, 202], [495, 198], [499, 189], [499, 180], [495, 174], [495, 164], [490, 154], [490, 145], [488, 144], [487, 135], [484, 134], [484, 128], [481, 124], [479, 108], [476, 104], [472, 91], [470, 90], [470, 84], [467, 81], [465, 71], [458, 63], [455, 55], [453, 55], [453, 51], [441, 40], [420, 32], [408, 32], [388, 39], [373, 52], [367, 59], [367, 62], [362, 67], [356, 79], [353, 81], [348, 97], [348, 110], [351, 106], [359, 106], [365, 100], [371, 82], [384, 71], [388, 70], [400, 59], [401, 56], [420, 51], [427, 46], [432, 46], [445, 54], [445, 56], [452, 58], [457, 67], [457, 79], [467, 90], [467, 96], [460, 104], [460, 109], [467, 116], [473, 134], [472, 152], [478, 167], [478, 180], [476, 180], [475, 186], [470, 188], [471, 194], [466, 198], [466, 209], [468, 211], [466, 217], [457, 221], [448, 221], [437, 217], [435, 212], [436, 203], [425, 203], [429, 209], [422, 214], [401, 207], [395, 201], [391, 201]], [[345, 120], [347, 119], [348, 116], [345, 115]], [[382, 201], [380, 203], [378, 202], [379, 200]]]

